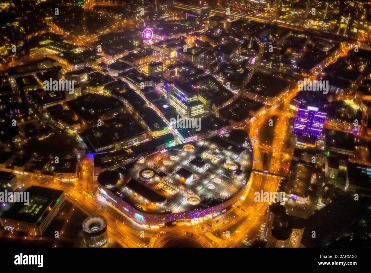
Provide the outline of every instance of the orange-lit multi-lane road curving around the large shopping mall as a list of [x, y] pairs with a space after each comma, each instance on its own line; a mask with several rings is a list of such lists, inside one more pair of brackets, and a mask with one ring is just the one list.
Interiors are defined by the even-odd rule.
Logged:
[[[348, 48], [347, 48], [348, 49]], [[344, 49], [343, 54], [346, 49]], [[329, 62], [335, 62], [342, 54], [337, 54], [330, 59]], [[320, 71], [315, 71], [313, 75], [307, 78], [316, 79]], [[274, 107], [266, 107], [266, 110], [256, 116], [245, 128], [249, 132], [252, 139], [254, 165], [256, 170], [263, 169], [262, 151], [269, 150], [272, 153], [272, 159], [269, 166], [270, 173], [279, 174], [284, 151], [282, 151], [283, 140], [285, 133], [288, 131], [288, 104], [295, 97], [298, 88], [295, 87], [289, 92], [282, 94], [281, 98], [276, 101], [282, 103], [281, 109]], [[277, 116], [275, 124], [275, 134], [272, 147], [266, 147], [259, 141], [259, 131], [265, 120], [271, 116]], [[287, 156], [287, 155], [286, 155]], [[79, 163], [81, 168], [81, 176], [73, 185], [47, 181], [45, 179], [36, 179], [30, 176], [19, 176], [20, 185], [24, 186], [41, 185], [50, 188], [62, 189], [66, 192], [68, 201], [73, 203], [73, 207], [80, 209], [87, 215], [98, 214], [104, 216], [108, 221], [108, 231], [110, 237], [124, 247], [161, 247], [170, 240], [176, 238], [192, 238], [203, 247], [235, 247], [242, 246], [244, 238], [255, 238], [261, 231], [262, 225], [265, 223], [267, 208], [266, 202], [257, 203], [254, 201], [254, 193], [261, 189], [268, 192], [275, 192], [278, 188], [279, 178], [259, 173], [252, 173], [249, 186], [246, 189], [243, 197], [237, 204], [227, 213], [222, 214], [209, 221], [195, 222], [180, 222], [174, 227], [162, 228], [143, 228], [135, 223], [127, 216], [119, 212], [114, 207], [111, 207], [103, 199], [98, 196], [96, 178], [92, 176], [92, 160], [87, 158]], [[76, 188], [75, 188], [76, 187]], [[85, 198], [85, 192], [93, 192], [92, 198]], [[78, 200], [78, 201], [76, 201]], [[217, 223], [215, 221], [218, 220]], [[211, 223], [210, 227], [206, 224]], [[61, 237], [63, 238], [63, 230], [66, 225], [61, 227]], [[219, 231], [230, 232], [229, 237], [223, 236], [222, 240], [212, 240], [212, 236], [207, 236], [207, 233]], [[144, 231], [144, 238], [143, 233]], [[188, 233], [188, 234], [186, 234]], [[192, 233], [193, 235], [189, 235]], [[207, 238], [209, 237], [209, 238]], [[211, 238], [211, 239], [210, 239]], [[56, 243], [58, 247], [58, 241]]]

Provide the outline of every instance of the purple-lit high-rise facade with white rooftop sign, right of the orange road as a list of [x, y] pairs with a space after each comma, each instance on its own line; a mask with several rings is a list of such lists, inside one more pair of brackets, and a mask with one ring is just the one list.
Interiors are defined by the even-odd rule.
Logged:
[[326, 113], [318, 111], [318, 108], [299, 107], [292, 131], [303, 136], [319, 137], [325, 120]]

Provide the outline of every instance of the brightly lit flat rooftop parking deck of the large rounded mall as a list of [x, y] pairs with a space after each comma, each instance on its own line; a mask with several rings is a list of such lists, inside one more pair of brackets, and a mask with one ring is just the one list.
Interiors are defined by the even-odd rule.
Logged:
[[[172, 137], [171, 134], [168, 135]], [[189, 144], [194, 149], [188, 150], [187, 145]], [[245, 154], [247, 155], [246, 159], [243, 157]], [[224, 163], [227, 156], [240, 165], [239, 171], [225, 168]], [[203, 172], [200, 172], [200, 169], [193, 163], [202, 166], [207, 164], [208, 166]], [[141, 170], [148, 168], [155, 170], [156, 176], [150, 181], [142, 181], [139, 174]], [[171, 146], [161, 153], [147, 156], [145, 163], [132, 163], [125, 166], [125, 169], [116, 169], [117, 172], [122, 173], [123, 183], [112, 189], [112, 192], [133, 207], [138, 205], [149, 213], [164, 213], [165, 210], [178, 212], [201, 209], [220, 204], [239, 192], [245, 185], [244, 175], [249, 176], [251, 169], [252, 154], [249, 149], [234, 143], [227, 137], [215, 136]], [[188, 181], [187, 184], [178, 176], [188, 178], [192, 174], [193, 180]], [[148, 205], [144, 199], [137, 198], [125, 186], [135, 192], [141, 191], [137, 193], [141, 194], [143, 198], [148, 197], [148, 200], [152, 198], [153, 192], [161, 196], [161, 202], [165, 199], [167, 202], [162, 207]], [[111, 191], [111, 189], [109, 190]], [[187, 196], [198, 195], [201, 199], [200, 204], [188, 204], [183, 197], [184, 194]]]

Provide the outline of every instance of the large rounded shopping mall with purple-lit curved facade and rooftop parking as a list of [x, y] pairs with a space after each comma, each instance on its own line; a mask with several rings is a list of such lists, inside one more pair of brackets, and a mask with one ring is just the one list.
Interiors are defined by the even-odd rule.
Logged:
[[102, 172], [99, 194], [145, 226], [207, 220], [230, 209], [244, 194], [253, 153], [245, 131], [233, 130]]

